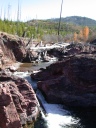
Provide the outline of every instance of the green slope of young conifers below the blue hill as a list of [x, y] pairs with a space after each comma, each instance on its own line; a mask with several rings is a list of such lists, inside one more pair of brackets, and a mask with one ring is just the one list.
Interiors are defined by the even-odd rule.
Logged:
[[[80, 29], [81, 27], [77, 25], [61, 23], [60, 35], [65, 36], [73, 32], [78, 32]], [[57, 35], [58, 22], [32, 20], [24, 23], [0, 20], [0, 31], [17, 34], [19, 36], [22, 36], [23, 32], [26, 31], [26, 37], [31, 37], [33, 35], [33, 38], [42, 38], [45, 34]]]

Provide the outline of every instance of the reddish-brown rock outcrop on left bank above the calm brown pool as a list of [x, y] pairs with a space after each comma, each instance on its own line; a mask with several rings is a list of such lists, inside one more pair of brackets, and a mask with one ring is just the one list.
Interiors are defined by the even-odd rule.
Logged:
[[0, 33], [0, 67], [22, 61], [26, 56], [25, 43], [19, 37]]

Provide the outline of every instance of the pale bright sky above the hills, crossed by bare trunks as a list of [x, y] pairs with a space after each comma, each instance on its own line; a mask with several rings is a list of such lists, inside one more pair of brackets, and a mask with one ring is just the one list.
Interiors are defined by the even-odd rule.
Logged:
[[[62, 0], [0, 0], [0, 17], [9, 20], [59, 18]], [[18, 9], [19, 3], [19, 9]], [[63, 0], [62, 17], [82, 16], [96, 20], [96, 0]]]

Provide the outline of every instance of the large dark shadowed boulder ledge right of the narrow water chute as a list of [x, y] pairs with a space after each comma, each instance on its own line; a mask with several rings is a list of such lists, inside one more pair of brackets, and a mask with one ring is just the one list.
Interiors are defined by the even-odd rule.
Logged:
[[50, 103], [96, 107], [96, 54], [74, 55], [31, 77]]

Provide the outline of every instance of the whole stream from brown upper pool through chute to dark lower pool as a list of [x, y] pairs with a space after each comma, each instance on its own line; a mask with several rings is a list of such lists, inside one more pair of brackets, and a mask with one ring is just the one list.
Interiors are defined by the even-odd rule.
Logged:
[[95, 109], [69, 109], [61, 104], [49, 104], [40, 90], [37, 89], [37, 82], [31, 79], [31, 72], [28, 71], [45, 68], [51, 63], [39, 63], [35, 66], [31, 63], [22, 64], [18, 69], [19, 71], [14, 73], [14, 75], [28, 80], [35, 90], [38, 99], [42, 102], [41, 116], [34, 124], [34, 128], [96, 128]]

